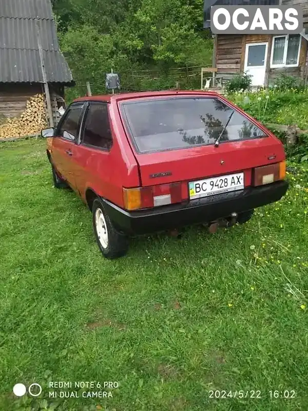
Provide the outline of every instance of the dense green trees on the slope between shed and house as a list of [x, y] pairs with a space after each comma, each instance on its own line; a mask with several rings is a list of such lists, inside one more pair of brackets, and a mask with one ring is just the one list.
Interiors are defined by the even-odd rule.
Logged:
[[157, 88], [157, 78], [169, 88], [177, 79], [173, 76], [170, 84], [168, 70], [211, 63], [201, 0], [53, 0], [53, 10], [78, 85], [69, 91], [71, 98], [84, 94], [86, 81], [95, 94], [106, 92], [105, 73], [111, 68], [121, 74], [125, 89], [139, 90], [145, 86], [136, 70], [159, 72], [147, 88]]

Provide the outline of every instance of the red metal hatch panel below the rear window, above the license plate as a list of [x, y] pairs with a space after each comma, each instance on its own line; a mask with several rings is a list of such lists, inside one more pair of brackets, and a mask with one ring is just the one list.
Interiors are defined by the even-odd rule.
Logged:
[[137, 155], [142, 186], [189, 182], [238, 172], [244, 172], [246, 186], [251, 184], [253, 167], [283, 159], [283, 150], [271, 137], [221, 144], [218, 148], [211, 145]]

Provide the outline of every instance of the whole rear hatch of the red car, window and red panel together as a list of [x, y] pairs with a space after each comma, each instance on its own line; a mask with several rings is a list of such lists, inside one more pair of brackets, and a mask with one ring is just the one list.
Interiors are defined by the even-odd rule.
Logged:
[[247, 186], [253, 167], [285, 158], [277, 138], [225, 99], [161, 97], [124, 103], [121, 109], [142, 186], [238, 172]]

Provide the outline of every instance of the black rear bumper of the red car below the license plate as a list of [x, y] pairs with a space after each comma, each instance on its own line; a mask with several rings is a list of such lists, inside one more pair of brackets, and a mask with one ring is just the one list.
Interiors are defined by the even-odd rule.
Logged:
[[172, 230], [196, 223], [210, 222], [265, 206], [281, 199], [288, 189], [287, 181], [278, 181], [260, 187], [198, 198], [185, 203], [170, 204], [157, 209], [128, 212], [103, 200], [105, 210], [119, 232], [149, 234]]

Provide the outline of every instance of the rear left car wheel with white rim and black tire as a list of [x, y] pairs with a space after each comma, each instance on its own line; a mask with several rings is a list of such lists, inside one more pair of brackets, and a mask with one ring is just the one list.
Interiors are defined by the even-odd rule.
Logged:
[[104, 257], [113, 259], [124, 256], [128, 250], [128, 239], [115, 230], [99, 198], [93, 201], [92, 221], [94, 235]]

